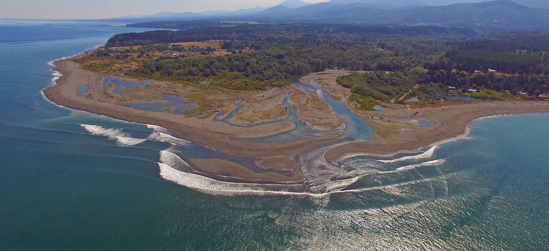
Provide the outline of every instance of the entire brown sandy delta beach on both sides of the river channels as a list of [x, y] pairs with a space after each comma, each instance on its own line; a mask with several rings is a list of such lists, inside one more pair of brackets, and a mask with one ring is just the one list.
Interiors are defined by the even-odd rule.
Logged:
[[[225, 114], [234, 110], [234, 105], [240, 96], [231, 96], [220, 93], [220, 101], [214, 101], [217, 97], [214, 92], [189, 91], [181, 92], [183, 97], [191, 101], [203, 102], [205, 115], [196, 118], [172, 113], [153, 112], [122, 107], [120, 104], [128, 100], [117, 97], [111, 88], [103, 90], [103, 79], [106, 74], [86, 71], [79, 68], [79, 64], [71, 60], [55, 62], [63, 76], [57, 80], [57, 84], [46, 88], [44, 95], [56, 104], [68, 108], [88, 111], [90, 113], [109, 116], [111, 118], [152, 124], [164, 127], [177, 137], [194, 141], [220, 152], [236, 157], [255, 157], [256, 165], [262, 169], [292, 171], [293, 176], [284, 176], [274, 172], [264, 174], [254, 173], [225, 160], [197, 160], [193, 159], [189, 164], [194, 169], [211, 175], [229, 175], [247, 180], [272, 180], [276, 182], [298, 182], [302, 180], [299, 171], [299, 163], [293, 156], [305, 150], [325, 146], [343, 141], [340, 133], [317, 133], [315, 138], [308, 138], [295, 142], [281, 143], [254, 143], [237, 140], [238, 138], [255, 138], [276, 135], [295, 129], [295, 124], [290, 121], [273, 122], [251, 127], [240, 127], [212, 120], [216, 109], [222, 109]], [[301, 78], [306, 84], [315, 81], [317, 85], [330, 97], [337, 101], [345, 101], [350, 96], [347, 88], [341, 87], [335, 81], [341, 74], [349, 74], [350, 71], [327, 71], [310, 74]], [[118, 76], [117, 76], [118, 77]], [[123, 77], [124, 81], [139, 82], [130, 77]], [[76, 89], [81, 85], [88, 85], [86, 96], [77, 96]], [[151, 85], [158, 88], [169, 86], [170, 83], [155, 81]], [[166, 92], [171, 90], [166, 89]], [[171, 91], [179, 92], [179, 91]], [[298, 92], [297, 94], [294, 92]], [[271, 91], [272, 93], [272, 91]], [[298, 107], [296, 115], [302, 122], [320, 130], [343, 129], [345, 124], [335, 116], [334, 111], [322, 102], [316, 93], [309, 92], [310, 97], [305, 97], [299, 88], [294, 86], [281, 90], [268, 96], [269, 92], [243, 94], [242, 97], [250, 98], [244, 103], [244, 109], [238, 111], [230, 121], [234, 124], [254, 124], [262, 121], [272, 121], [285, 118], [288, 111], [281, 106], [282, 98], [288, 94], [294, 94], [289, 102]], [[247, 95], [247, 96], [246, 96]], [[208, 97], [207, 99], [204, 96]], [[261, 101], [261, 97], [266, 97]], [[302, 96], [302, 97], [301, 97]], [[150, 102], [138, 100], [135, 102]], [[158, 101], [155, 101], [158, 102]], [[217, 102], [217, 103], [216, 103]], [[372, 126], [375, 137], [368, 142], [350, 142], [329, 149], [324, 157], [334, 161], [348, 154], [371, 153], [389, 154], [402, 150], [414, 150], [428, 146], [434, 142], [445, 140], [456, 135], [461, 135], [469, 122], [484, 116], [514, 113], [542, 113], [549, 112], [549, 102], [470, 102], [453, 103], [434, 108], [422, 109], [385, 109], [383, 111], [365, 112], [349, 108], [353, 113], [361, 116]], [[208, 107], [210, 105], [211, 107]], [[222, 107], [222, 108], [217, 108]], [[221, 117], [220, 117], [221, 118]], [[419, 128], [405, 121], [427, 119], [436, 122], [435, 126]], [[413, 124], [413, 123], [412, 123]], [[402, 132], [406, 131], [406, 132]], [[223, 165], [225, 168], [212, 168]]]

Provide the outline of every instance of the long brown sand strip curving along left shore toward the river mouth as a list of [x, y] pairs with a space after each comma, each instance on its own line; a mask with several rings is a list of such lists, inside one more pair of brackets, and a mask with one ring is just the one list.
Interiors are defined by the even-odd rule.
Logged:
[[[44, 90], [44, 95], [54, 103], [115, 119], [158, 125], [184, 140], [204, 144], [229, 155], [238, 157], [289, 156], [343, 140], [341, 137], [312, 138], [287, 143], [253, 143], [232, 140], [232, 138], [276, 135], [293, 130], [295, 125], [290, 121], [284, 121], [254, 127], [236, 127], [218, 121], [121, 107], [101, 95], [103, 93], [102, 81], [105, 75], [82, 70], [77, 63], [70, 60], [60, 60], [55, 64], [57, 65], [55, 70], [63, 76], [57, 80], [56, 85]], [[83, 84], [88, 84], [91, 87], [92, 98], [76, 96], [77, 86]]]

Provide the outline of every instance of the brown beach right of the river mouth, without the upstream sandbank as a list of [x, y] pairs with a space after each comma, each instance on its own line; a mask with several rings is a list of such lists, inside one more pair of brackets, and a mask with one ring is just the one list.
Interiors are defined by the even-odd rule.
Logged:
[[[382, 155], [416, 150], [435, 142], [463, 135], [469, 123], [475, 119], [503, 114], [549, 113], [549, 102], [470, 102], [423, 109], [386, 109], [378, 112], [351, 111], [367, 121], [368, 119], [372, 120], [373, 116], [374, 120], [377, 120], [377, 123], [401, 125], [403, 129], [411, 129], [413, 131], [409, 133], [389, 133], [389, 135], [382, 133], [383, 135], [378, 135], [380, 129], [376, 130], [376, 126], [372, 126], [374, 132], [376, 132], [376, 137], [372, 141], [350, 142], [329, 149], [324, 154], [327, 160], [334, 161], [345, 155], [356, 153]], [[402, 122], [405, 120], [416, 119], [435, 121], [437, 125], [423, 128], [410, 127], [407, 124], [402, 125]]]

